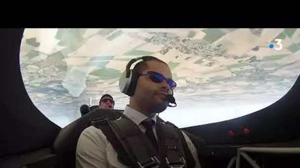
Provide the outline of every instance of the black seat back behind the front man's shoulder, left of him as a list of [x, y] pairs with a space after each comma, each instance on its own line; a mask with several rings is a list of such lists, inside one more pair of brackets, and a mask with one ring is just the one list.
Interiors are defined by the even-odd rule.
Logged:
[[53, 149], [58, 161], [64, 165], [64, 168], [75, 168], [77, 140], [81, 132], [91, 126], [91, 119], [107, 117], [114, 120], [120, 117], [122, 112], [123, 110], [96, 108], [63, 128], [53, 144]]

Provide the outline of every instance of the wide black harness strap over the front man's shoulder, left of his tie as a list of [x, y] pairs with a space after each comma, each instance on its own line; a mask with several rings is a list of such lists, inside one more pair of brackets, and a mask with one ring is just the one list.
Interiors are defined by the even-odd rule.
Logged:
[[118, 154], [118, 160], [134, 168], [154, 168], [160, 162], [157, 151], [145, 134], [127, 118], [109, 120], [104, 118], [92, 121], [92, 125], [101, 129]]

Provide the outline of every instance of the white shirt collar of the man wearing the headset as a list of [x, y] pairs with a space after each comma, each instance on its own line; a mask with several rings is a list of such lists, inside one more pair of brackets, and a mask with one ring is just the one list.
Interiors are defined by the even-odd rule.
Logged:
[[[125, 110], [123, 112], [124, 115], [126, 115], [129, 119], [131, 119], [135, 124], [140, 125], [142, 121], [148, 118], [145, 114], [142, 112], [138, 112], [132, 108], [130, 108], [128, 105], [125, 107]], [[151, 117], [151, 119], [156, 123], [156, 115]]]

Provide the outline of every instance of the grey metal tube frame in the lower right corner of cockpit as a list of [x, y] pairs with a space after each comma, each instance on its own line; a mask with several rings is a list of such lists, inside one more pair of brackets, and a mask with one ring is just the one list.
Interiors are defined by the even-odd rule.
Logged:
[[237, 156], [231, 158], [227, 168], [240, 168], [241, 156], [248, 161], [253, 168], [261, 168], [246, 152], [255, 153], [277, 153], [277, 154], [300, 154], [300, 147], [240, 147], [237, 149]]

